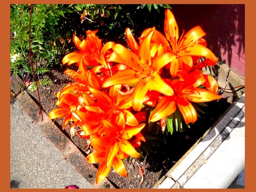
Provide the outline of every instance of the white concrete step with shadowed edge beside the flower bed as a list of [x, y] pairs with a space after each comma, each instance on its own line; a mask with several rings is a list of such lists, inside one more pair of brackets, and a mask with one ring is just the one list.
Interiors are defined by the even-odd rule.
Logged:
[[245, 93], [153, 188], [228, 188], [245, 166], [244, 104]]

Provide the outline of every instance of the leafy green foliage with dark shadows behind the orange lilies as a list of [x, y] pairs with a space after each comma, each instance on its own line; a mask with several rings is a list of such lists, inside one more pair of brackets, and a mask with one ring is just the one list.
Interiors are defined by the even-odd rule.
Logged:
[[[61, 66], [64, 55], [76, 49], [73, 34], [85, 37], [87, 30], [98, 29], [103, 43], [114, 41], [125, 45], [125, 29], [129, 27], [135, 36], [148, 28], [162, 29], [164, 9], [168, 4], [149, 4], [143, 9], [138, 4], [35, 4], [31, 18], [31, 51], [33, 61], [41, 59], [36, 75], [47, 69]], [[151, 6], [154, 9], [151, 9]], [[10, 5], [11, 64], [15, 75], [29, 76], [29, 17], [31, 5]], [[150, 14], [148, 14], [150, 12]], [[43, 63], [42, 63], [43, 61]]]

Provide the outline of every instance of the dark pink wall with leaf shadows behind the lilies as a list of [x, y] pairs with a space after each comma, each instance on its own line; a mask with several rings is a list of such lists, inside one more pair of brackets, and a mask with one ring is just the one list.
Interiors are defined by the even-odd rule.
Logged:
[[186, 32], [200, 25], [207, 33], [207, 47], [235, 70], [245, 75], [244, 4], [171, 5], [179, 29]]

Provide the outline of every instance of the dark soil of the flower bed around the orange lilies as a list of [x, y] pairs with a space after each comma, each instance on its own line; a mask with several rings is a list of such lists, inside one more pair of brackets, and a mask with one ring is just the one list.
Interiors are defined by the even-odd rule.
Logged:
[[[48, 79], [52, 84], [48, 86], [40, 86], [39, 93], [41, 98], [41, 105], [44, 111], [48, 114], [54, 108], [57, 97], [55, 93], [61, 91], [64, 86], [73, 80], [65, 75], [63, 72], [68, 66], [62, 66], [58, 69], [51, 69], [47, 73]], [[71, 68], [69, 66], [69, 68]], [[29, 92], [32, 97], [38, 100], [37, 91]], [[151, 188], [154, 184], [175, 165], [175, 163], [195, 144], [197, 140], [212, 126], [212, 124], [221, 117], [224, 111], [236, 99], [230, 93], [219, 90], [218, 94], [222, 99], [209, 102], [208, 108], [204, 108], [206, 115], [200, 114], [201, 118], [195, 124], [190, 125], [190, 128], [183, 128], [183, 132], [175, 131], [172, 135], [166, 137], [166, 144], [160, 141], [159, 147], [152, 147], [150, 155], [145, 154], [143, 158], [124, 160], [128, 177], [122, 177], [111, 169], [108, 179], [113, 183], [116, 188], [130, 189], [130, 188]], [[231, 101], [231, 102], [230, 102]], [[62, 130], [63, 119], [56, 119], [55, 124]], [[81, 150], [86, 157], [91, 152], [90, 148], [87, 149], [87, 140], [81, 139], [77, 135], [71, 138], [69, 126], [63, 131], [64, 134], [73, 141], [73, 143]], [[85, 158], [84, 157], [84, 158]], [[140, 185], [141, 176], [139, 167], [136, 163], [140, 163], [143, 168], [144, 181]], [[97, 165], [95, 165], [97, 167]], [[76, 183], [79, 186], [79, 183]]]

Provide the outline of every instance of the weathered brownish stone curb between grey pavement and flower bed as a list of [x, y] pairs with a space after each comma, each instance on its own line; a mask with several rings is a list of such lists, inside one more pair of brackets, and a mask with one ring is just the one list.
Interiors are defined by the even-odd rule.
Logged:
[[[17, 76], [11, 76], [11, 92], [18, 93], [22, 81]], [[38, 125], [45, 137], [49, 139], [59, 151], [67, 158], [67, 161], [79, 172], [94, 189], [115, 189], [111, 182], [105, 178], [101, 183], [96, 184], [95, 178], [97, 169], [90, 163], [87, 163], [84, 155], [76, 147], [76, 145], [67, 138], [66, 135], [49, 119], [48, 115], [43, 113], [43, 122], [41, 121], [41, 114], [39, 114], [39, 105], [29, 96], [26, 91], [20, 93], [16, 97], [16, 101], [23, 109], [23, 111], [30, 116], [33, 121]]]

